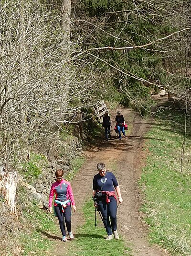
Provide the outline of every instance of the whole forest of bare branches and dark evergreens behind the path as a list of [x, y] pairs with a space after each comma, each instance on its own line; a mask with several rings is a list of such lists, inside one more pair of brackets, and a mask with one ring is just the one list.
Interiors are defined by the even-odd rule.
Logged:
[[10, 166], [93, 117], [100, 99], [144, 116], [150, 93], [165, 89], [189, 110], [190, 0], [2, 0], [0, 12], [0, 156]]

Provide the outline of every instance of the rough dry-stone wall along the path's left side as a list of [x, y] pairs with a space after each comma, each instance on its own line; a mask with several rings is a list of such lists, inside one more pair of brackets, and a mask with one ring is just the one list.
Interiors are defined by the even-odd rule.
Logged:
[[[56, 181], [55, 171], [59, 168], [64, 170], [64, 176], [72, 172], [72, 161], [82, 154], [82, 146], [77, 137], [64, 140], [57, 140], [54, 149], [49, 151], [48, 165], [42, 169], [42, 174], [34, 184], [29, 185], [21, 180], [31, 199], [38, 201], [40, 208], [48, 208], [48, 195], [51, 184]], [[52, 159], [53, 162], [50, 162]]]

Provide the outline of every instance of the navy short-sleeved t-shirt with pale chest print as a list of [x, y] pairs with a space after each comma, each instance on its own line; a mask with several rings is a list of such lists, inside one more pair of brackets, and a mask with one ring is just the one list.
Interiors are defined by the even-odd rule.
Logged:
[[[104, 180], [104, 177], [105, 180]], [[106, 175], [102, 177], [100, 174], [96, 174], [93, 179], [93, 190], [100, 191], [102, 184], [104, 186], [102, 191], [114, 191], [116, 186], [118, 186], [116, 176], [111, 172], [106, 172]]]

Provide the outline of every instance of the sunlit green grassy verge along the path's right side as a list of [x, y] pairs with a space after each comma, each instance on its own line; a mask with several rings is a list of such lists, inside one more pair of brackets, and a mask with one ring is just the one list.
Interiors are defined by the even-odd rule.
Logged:
[[[173, 255], [191, 255], [191, 134], [186, 131], [182, 168], [184, 114], [164, 112], [147, 134], [149, 154], [140, 180], [145, 194], [142, 211], [150, 227], [150, 241]], [[187, 120], [188, 123], [190, 120]]]

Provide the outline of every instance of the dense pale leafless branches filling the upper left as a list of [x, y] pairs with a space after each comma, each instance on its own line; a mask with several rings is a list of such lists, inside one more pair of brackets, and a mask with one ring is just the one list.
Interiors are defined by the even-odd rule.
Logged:
[[96, 101], [95, 74], [68, 62], [74, 46], [61, 7], [40, 0], [0, 3], [1, 159], [9, 152], [17, 161], [28, 141], [51, 139], [55, 126], [75, 121], [82, 106]]

